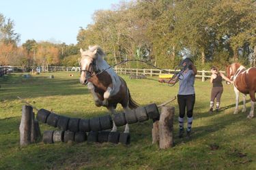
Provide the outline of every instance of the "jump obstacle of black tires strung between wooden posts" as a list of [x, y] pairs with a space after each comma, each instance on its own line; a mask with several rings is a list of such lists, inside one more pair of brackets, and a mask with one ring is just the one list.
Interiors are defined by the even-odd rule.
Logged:
[[[115, 114], [113, 120], [109, 115], [90, 119], [68, 118], [66, 116], [59, 116], [58, 114], [50, 112], [46, 109], [39, 109], [36, 118], [42, 123], [46, 123], [49, 126], [58, 127], [61, 129], [61, 131], [45, 131], [43, 135], [44, 143], [56, 143], [59, 141], [83, 142], [87, 140], [100, 143], [106, 141], [111, 143], [120, 142], [126, 145], [130, 143], [129, 133], [109, 132], [104, 130], [111, 129], [113, 127], [113, 121], [115, 122], [116, 126], [123, 126], [126, 123], [133, 124], [136, 122], [144, 122], [150, 118], [154, 121], [152, 143], [161, 143], [161, 141], [163, 141], [162, 143], [165, 143], [165, 147], [163, 148], [169, 148], [173, 146], [172, 131], [174, 107], [171, 107], [171, 109], [165, 109], [165, 107], [163, 107], [162, 114], [159, 114], [158, 107], [160, 106], [152, 103], [145, 107], [138, 107], [137, 109], [132, 109], [129, 112]], [[29, 107], [33, 111], [33, 108], [30, 106], [23, 107]], [[24, 124], [24, 121], [22, 121], [20, 124]], [[156, 131], [156, 129], [158, 130]], [[161, 133], [159, 129], [163, 129], [165, 133]], [[162, 148], [162, 145], [159, 145], [159, 147]]]

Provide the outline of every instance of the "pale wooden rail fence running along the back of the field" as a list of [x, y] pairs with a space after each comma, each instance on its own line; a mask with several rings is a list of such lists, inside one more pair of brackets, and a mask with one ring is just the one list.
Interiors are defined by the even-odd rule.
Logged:
[[[0, 76], [5, 73], [17, 73], [17, 72], [30, 72], [30, 71], [36, 71], [35, 67], [0, 67]], [[124, 74], [124, 75], [149, 75], [152, 76], [158, 76], [160, 74], [169, 74], [169, 73], [175, 73], [174, 69], [163, 69], [165, 71], [159, 70], [159, 69], [130, 69], [130, 68], [114, 68], [116, 73]], [[42, 72], [52, 72], [52, 71], [80, 71], [80, 67], [48, 67], [48, 69], [42, 69]], [[205, 79], [210, 78], [211, 72], [210, 71], [197, 71], [196, 78], [200, 78], [203, 82]], [[224, 71], [221, 71], [222, 73], [225, 73]]]

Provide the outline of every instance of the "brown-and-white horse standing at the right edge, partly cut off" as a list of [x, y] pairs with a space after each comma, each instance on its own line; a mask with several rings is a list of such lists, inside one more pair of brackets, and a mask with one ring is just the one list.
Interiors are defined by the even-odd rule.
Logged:
[[227, 78], [233, 80], [233, 86], [236, 93], [236, 108], [233, 114], [238, 114], [238, 101], [239, 92], [243, 95], [243, 109], [242, 112], [246, 112], [246, 94], [251, 97], [251, 111], [247, 118], [253, 118], [254, 105], [255, 105], [255, 92], [256, 92], [256, 67], [246, 69], [240, 63], [233, 63], [227, 67]]

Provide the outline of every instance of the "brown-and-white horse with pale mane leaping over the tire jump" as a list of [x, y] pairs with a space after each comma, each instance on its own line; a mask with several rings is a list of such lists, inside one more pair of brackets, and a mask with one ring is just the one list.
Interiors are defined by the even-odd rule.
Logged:
[[[117, 103], [120, 103], [125, 111], [138, 107], [130, 97], [126, 82], [112, 68], [108, 69], [110, 66], [104, 61], [105, 54], [99, 46], [89, 46], [89, 50], [80, 49], [80, 52], [80, 82], [83, 85], [87, 84], [96, 106], [104, 106], [112, 114], [115, 114]], [[117, 131], [115, 122], [112, 131]], [[129, 133], [128, 124], [124, 132]]]

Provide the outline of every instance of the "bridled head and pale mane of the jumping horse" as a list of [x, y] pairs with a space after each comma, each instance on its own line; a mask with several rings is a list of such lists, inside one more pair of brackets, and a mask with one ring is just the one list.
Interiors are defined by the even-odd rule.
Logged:
[[81, 60], [79, 61], [81, 66], [81, 77], [80, 82], [83, 85], [86, 85], [96, 71], [98, 71], [96, 61], [102, 58], [104, 52], [100, 49], [99, 46], [89, 46], [89, 49], [81, 52]]

